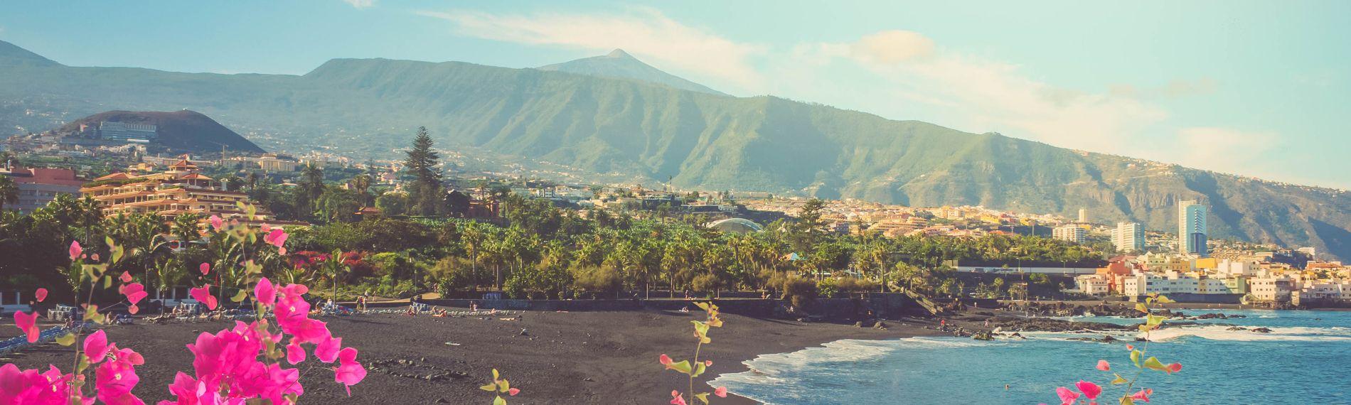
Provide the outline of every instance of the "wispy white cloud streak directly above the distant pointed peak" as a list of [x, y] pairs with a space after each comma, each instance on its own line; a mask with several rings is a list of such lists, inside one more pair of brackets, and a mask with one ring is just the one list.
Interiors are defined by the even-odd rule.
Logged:
[[663, 69], [721, 78], [755, 88], [759, 74], [750, 58], [763, 47], [738, 43], [708, 30], [671, 20], [654, 8], [624, 14], [500, 15], [476, 11], [419, 11], [455, 23], [455, 32], [493, 40], [547, 45], [604, 53], [623, 49]]

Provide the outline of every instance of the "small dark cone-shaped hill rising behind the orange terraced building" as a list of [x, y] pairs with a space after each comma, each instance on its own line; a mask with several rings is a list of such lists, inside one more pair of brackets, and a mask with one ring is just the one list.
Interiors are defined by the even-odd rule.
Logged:
[[99, 123], [103, 122], [157, 126], [158, 134], [151, 144], [173, 151], [218, 153], [224, 146], [232, 153], [263, 153], [261, 147], [239, 136], [235, 131], [200, 112], [188, 109], [173, 112], [105, 111], [61, 126], [55, 132], [78, 134], [81, 127], [97, 128]]

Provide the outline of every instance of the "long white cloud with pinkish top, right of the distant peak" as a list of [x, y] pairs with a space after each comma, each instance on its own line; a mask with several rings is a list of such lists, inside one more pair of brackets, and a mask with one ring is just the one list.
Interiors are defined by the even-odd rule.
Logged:
[[[911, 31], [882, 31], [815, 47], [877, 73], [908, 100], [961, 108], [969, 131], [1000, 131], [1061, 147], [1120, 151], [1169, 113], [1119, 92], [1081, 92], [1025, 76], [1020, 66], [944, 51]], [[847, 50], [847, 51], [844, 51]], [[921, 119], [921, 117], [920, 117]]]

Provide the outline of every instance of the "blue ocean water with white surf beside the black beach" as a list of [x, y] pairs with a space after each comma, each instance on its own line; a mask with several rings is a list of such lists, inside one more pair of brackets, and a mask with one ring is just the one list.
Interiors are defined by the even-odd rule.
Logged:
[[[1183, 310], [1193, 315], [1208, 310]], [[1209, 310], [1215, 312], [1215, 310]], [[1351, 312], [1223, 310], [1244, 319], [1151, 333], [1148, 351], [1182, 371], [1147, 371], [1140, 385], [1152, 404], [1351, 404]], [[1139, 320], [1073, 320], [1135, 324]], [[1227, 331], [1267, 327], [1271, 333]], [[1135, 333], [1116, 333], [1135, 338]], [[1116, 404], [1120, 386], [1098, 359], [1131, 378], [1136, 369], [1121, 343], [1077, 342], [1100, 335], [1031, 333], [1028, 339], [969, 338], [839, 340], [746, 362], [751, 371], [724, 374], [739, 396], [767, 404], [1059, 404], [1055, 387], [1088, 379]], [[1139, 346], [1140, 343], [1133, 343]], [[1008, 385], [1008, 389], [1004, 386]]]

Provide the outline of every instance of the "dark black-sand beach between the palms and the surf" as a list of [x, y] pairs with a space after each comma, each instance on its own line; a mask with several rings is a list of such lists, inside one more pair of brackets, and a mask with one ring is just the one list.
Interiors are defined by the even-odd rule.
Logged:
[[[526, 312], [521, 320], [499, 317], [431, 317], [361, 315], [328, 317], [334, 335], [361, 351], [358, 359], [381, 370], [353, 387], [347, 398], [332, 381], [328, 364], [311, 356], [301, 363], [303, 400], [311, 404], [488, 404], [492, 396], [478, 390], [499, 369], [520, 387], [512, 404], [665, 404], [671, 389], [685, 390], [688, 378], [663, 370], [661, 354], [676, 359], [692, 355], [690, 320], [700, 313], [663, 310], [632, 312]], [[711, 332], [701, 359], [713, 366], [701, 381], [721, 373], [740, 373], [742, 363], [757, 355], [790, 352], [839, 339], [897, 339], [936, 335], [923, 320], [886, 321], [888, 329], [854, 325], [753, 319], [724, 315], [725, 327]], [[192, 370], [185, 344], [199, 332], [215, 332], [227, 323], [169, 325], [120, 325], [107, 328], [109, 340], [145, 355], [138, 369], [135, 394], [151, 402], [168, 397], [176, 371]], [[521, 335], [526, 329], [526, 335]], [[0, 327], [0, 338], [18, 335], [12, 323]], [[447, 344], [457, 343], [455, 346]], [[70, 348], [47, 346], [28, 350], [4, 362], [20, 367], [69, 369]], [[403, 360], [403, 362], [400, 362]], [[397, 373], [390, 374], [390, 371]], [[428, 374], [459, 374], [458, 378], [426, 379]], [[696, 382], [696, 390], [701, 389]], [[707, 387], [707, 385], [703, 385]], [[734, 393], [735, 394], [735, 393]], [[735, 397], [735, 396], [732, 396]], [[730, 398], [721, 404], [754, 404]]]

